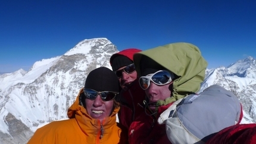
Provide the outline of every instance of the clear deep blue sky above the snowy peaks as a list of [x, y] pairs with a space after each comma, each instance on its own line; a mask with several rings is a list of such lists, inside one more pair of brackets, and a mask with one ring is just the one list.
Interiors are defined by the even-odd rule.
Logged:
[[84, 39], [118, 51], [173, 42], [201, 49], [208, 68], [256, 58], [256, 1], [0, 0], [0, 72], [29, 70]]

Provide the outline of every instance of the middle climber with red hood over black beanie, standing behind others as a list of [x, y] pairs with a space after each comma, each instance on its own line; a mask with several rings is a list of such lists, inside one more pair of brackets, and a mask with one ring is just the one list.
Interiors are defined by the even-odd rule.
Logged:
[[118, 99], [120, 102], [118, 118], [127, 130], [132, 121], [143, 112], [140, 104], [145, 99], [145, 92], [139, 86], [137, 72], [133, 64], [133, 54], [140, 51], [129, 48], [112, 55], [110, 58], [111, 67], [117, 75], [121, 87]]

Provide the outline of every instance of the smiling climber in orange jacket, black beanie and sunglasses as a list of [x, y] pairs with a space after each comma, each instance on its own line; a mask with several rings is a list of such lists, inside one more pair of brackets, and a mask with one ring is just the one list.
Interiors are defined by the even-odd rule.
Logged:
[[68, 120], [54, 121], [36, 130], [31, 143], [127, 143], [127, 133], [115, 121], [119, 82], [113, 71], [96, 68], [68, 109]]

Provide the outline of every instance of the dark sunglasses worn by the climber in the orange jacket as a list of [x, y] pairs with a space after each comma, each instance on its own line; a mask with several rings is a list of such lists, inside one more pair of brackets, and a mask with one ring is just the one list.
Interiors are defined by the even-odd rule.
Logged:
[[104, 91], [104, 92], [97, 92], [93, 89], [83, 89], [83, 93], [85, 94], [87, 99], [95, 100], [96, 97], [99, 95], [101, 96], [102, 101], [111, 101], [118, 95], [118, 92], [111, 92], [111, 91]]

